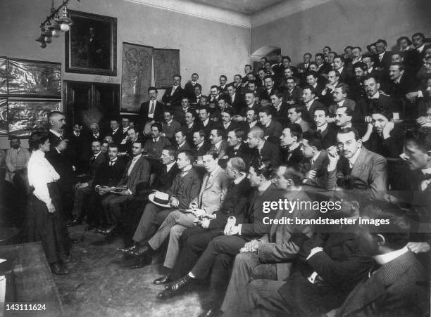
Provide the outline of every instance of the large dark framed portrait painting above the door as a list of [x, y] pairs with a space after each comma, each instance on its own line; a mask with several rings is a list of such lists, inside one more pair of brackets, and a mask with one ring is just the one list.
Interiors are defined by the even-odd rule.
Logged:
[[65, 72], [117, 76], [117, 18], [69, 11]]

